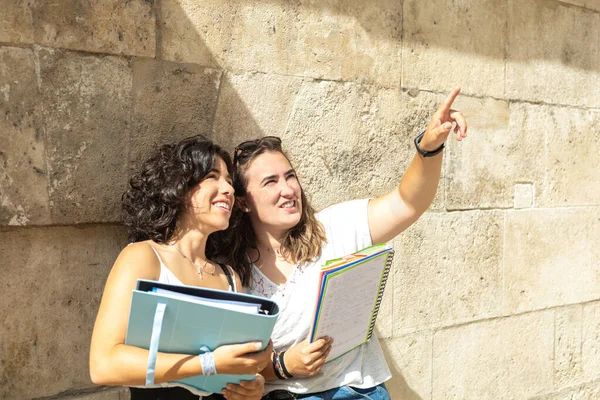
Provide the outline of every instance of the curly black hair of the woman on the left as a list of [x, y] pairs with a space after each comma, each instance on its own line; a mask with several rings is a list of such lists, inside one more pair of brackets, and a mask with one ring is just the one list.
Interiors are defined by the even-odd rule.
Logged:
[[129, 189], [122, 197], [123, 222], [129, 241], [169, 242], [187, 193], [213, 170], [218, 157], [233, 175], [229, 154], [203, 136], [158, 148], [131, 177]]

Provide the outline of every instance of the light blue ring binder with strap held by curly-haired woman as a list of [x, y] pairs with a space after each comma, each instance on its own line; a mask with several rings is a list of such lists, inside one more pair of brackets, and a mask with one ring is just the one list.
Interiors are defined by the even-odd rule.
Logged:
[[[249, 314], [174, 299], [153, 291], [158, 288], [208, 299], [256, 304], [260, 306], [260, 313]], [[225, 344], [253, 341], [262, 342], [264, 349], [278, 315], [277, 303], [262, 297], [138, 279], [131, 300], [125, 344], [150, 350], [146, 385], [152, 385], [157, 352], [197, 355], [203, 346], [212, 351]], [[198, 375], [177, 382], [219, 393], [227, 383], [251, 379], [254, 375], [217, 374]]]

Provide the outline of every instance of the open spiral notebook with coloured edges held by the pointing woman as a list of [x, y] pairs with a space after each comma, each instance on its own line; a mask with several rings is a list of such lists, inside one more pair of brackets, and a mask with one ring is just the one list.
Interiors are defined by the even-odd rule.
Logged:
[[329, 336], [327, 361], [346, 354], [373, 335], [394, 250], [385, 244], [330, 260], [322, 268], [310, 341]]

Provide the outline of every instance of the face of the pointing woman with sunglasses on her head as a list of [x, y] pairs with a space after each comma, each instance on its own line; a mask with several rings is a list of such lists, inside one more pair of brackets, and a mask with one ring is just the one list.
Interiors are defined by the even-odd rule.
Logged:
[[300, 222], [302, 188], [288, 159], [280, 152], [257, 156], [244, 174], [246, 195], [255, 232], [262, 230], [281, 235]]

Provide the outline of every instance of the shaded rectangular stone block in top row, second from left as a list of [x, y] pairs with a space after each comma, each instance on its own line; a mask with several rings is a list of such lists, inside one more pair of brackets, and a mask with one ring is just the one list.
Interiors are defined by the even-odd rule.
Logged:
[[38, 44], [98, 53], [155, 56], [152, 1], [35, 0], [31, 2]]

